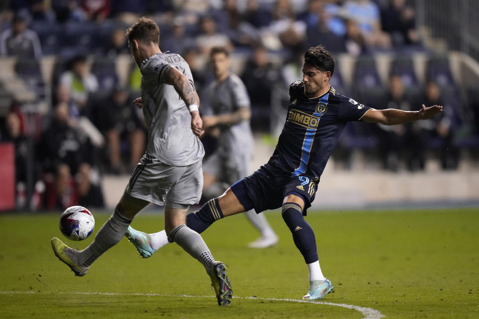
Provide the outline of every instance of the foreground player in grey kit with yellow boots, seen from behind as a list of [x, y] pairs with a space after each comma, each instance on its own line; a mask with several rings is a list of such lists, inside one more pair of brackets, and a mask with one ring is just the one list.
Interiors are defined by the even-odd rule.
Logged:
[[78, 251], [55, 237], [51, 240], [53, 251], [76, 276], [84, 276], [100, 255], [122, 239], [142, 208], [150, 202], [164, 205], [169, 240], [203, 264], [211, 277], [218, 304], [228, 306], [232, 289], [226, 266], [215, 261], [201, 235], [186, 226], [185, 220], [190, 204], [201, 197], [201, 165], [205, 154], [198, 138], [204, 131], [190, 67], [180, 55], [159, 49], [160, 33], [154, 21], [140, 18], [126, 34], [142, 74], [142, 97], [134, 103], [143, 108], [148, 126], [146, 153], [115, 212], [95, 240]]

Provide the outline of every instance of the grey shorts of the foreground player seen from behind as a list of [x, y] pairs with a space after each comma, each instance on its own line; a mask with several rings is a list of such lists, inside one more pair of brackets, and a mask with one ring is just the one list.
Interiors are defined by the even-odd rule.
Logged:
[[201, 160], [188, 166], [171, 166], [144, 155], [125, 191], [157, 205], [188, 208], [200, 201], [202, 188]]

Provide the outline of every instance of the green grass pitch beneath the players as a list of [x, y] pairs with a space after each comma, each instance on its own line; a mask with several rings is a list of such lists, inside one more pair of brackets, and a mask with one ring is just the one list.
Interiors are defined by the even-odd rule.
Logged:
[[[109, 214], [93, 214], [96, 233]], [[203, 233], [228, 266], [234, 299], [224, 308], [203, 266], [176, 244], [145, 260], [123, 239], [85, 277], [74, 277], [51, 250], [51, 237], [64, 239], [58, 216], [0, 215], [0, 318], [380, 317], [277, 300], [298, 300], [308, 287], [307, 268], [279, 212], [267, 213], [280, 238], [273, 248], [246, 248], [257, 234], [241, 215]], [[335, 286], [324, 302], [386, 318], [479, 318], [479, 209], [309, 212], [307, 220], [323, 273]], [[163, 215], [140, 214], [132, 225], [160, 230]]]

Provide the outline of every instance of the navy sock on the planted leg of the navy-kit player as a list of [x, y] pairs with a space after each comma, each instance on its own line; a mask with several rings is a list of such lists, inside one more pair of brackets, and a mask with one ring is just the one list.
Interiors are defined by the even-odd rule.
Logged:
[[296, 203], [284, 203], [281, 216], [293, 234], [293, 241], [304, 257], [306, 264], [318, 260], [316, 237], [313, 229], [304, 220], [301, 206]]

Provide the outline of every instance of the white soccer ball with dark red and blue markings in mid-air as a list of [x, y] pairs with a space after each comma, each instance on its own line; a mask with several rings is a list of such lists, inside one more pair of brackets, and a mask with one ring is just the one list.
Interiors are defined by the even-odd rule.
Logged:
[[68, 207], [60, 216], [60, 231], [71, 240], [83, 240], [95, 228], [95, 219], [88, 209], [82, 206]]

